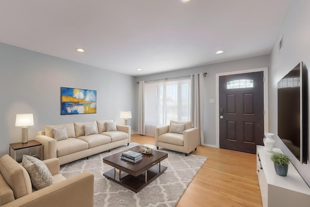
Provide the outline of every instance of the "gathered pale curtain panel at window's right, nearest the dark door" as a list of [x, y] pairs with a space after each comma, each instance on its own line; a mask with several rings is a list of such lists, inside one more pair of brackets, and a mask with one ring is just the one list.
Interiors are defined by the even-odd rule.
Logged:
[[191, 75], [191, 83], [192, 83], [192, 117], [191, 120], [193, 122], [194, 127], [199, 128], [199, 144], [204, 143], [203, 137], [203, 81], [204, 76], [202, 73]]

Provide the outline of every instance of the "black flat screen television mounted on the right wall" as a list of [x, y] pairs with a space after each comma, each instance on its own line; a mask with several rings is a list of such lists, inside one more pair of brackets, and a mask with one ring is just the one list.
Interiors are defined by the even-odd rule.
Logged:
[[308, 71], [297, 64], [278, 82], [278, 136], [300, 163], [308, 159]]

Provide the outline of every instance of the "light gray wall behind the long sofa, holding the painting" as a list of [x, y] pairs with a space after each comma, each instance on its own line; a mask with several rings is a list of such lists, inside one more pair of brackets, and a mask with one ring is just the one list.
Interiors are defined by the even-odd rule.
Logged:
[[[131, 111], [135, 82], [132, 76], [63, 60], [0, 43], [0, 156], [9, 143], [21, 141], [16, 113], [33, 113], [33, 140], [45, 125], [113, 119], [124, 124], [120, 111]], [[97, 91], [97, 113], [60, 115], [60, 88]], [[131, 125], [132, 120], [128, 120]]]

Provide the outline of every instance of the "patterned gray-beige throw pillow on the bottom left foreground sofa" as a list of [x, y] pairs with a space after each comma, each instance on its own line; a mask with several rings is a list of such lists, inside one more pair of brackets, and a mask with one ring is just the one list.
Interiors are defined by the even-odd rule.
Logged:
[[40, 159], [23, 155], [22, 164], [30, 175], [31, 184], [35, 190], [40, 190], [54, 184], [53, 175]]

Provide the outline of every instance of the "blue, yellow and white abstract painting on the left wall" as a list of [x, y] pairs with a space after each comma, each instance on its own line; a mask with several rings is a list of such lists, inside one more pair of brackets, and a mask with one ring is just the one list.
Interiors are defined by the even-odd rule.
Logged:
[[61, 115], [96, 113], [96, 95], [93, 90], [61, 87]]

